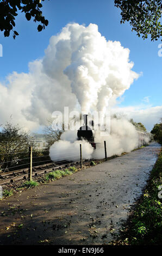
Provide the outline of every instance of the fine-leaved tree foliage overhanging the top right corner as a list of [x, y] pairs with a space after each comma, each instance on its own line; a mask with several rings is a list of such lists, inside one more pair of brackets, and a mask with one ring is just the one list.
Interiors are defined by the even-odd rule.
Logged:
[[[142, 38], [151, 35], [151, 40], [158, 40], [162, 35], [161, 0], [115, 0], [115, 6], [121, 9], [121, 23], [130, 22], [132, 31]], [[162, 41], [162, 40], [161, 40]]]

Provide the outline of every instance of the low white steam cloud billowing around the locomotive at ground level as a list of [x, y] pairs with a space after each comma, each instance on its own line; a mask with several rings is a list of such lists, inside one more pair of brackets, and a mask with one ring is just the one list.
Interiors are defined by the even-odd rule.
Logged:
[[78, 161], [80, 156], [79, 144], [82, 144], [83, 159], [104, 159], [104, 141], [107, 142], [107, 156], [121, 155], [129, 153], [143, 143], [149, 142], [149, 136], [142, 137], [135, 126], [126, 118], [111, 119], [111, 133], [100, 131], [95, 132], [96, 149], [84, 139], [77, 141], [77, 131], [65, 131], [58, 142], [55, 142], [50, 148], [50, 156], [53, 161], [72, 160]]

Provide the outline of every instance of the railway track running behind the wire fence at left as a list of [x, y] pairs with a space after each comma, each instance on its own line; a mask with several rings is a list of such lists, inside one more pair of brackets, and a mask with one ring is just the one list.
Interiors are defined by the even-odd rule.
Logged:
[[[90, 162], [90, 160], [84, 160], [83, 162]], [[53, 170], [63, 169], [70, 166], [78, 166], [80, 164], [79, 161], [72, 162], [72, 163], [65, 163], [58, 164], [57, 162], [42, 164], [40, 166], [36, 166], [32, 168], [32, 177], [34, 176], [40, 176], [49, 172], [52, 172]], [[29, 178], [29, 168], [24, 168], [20, 170], [14, 170], [7, 173], [2, 173], [0, 175], [0, 185], [6, 185], [18, 180], [27, 180]]]

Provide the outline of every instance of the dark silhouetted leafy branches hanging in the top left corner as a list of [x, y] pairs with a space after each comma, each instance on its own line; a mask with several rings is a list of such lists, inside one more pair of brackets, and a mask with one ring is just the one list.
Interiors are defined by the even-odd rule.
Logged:
[[25, 14], [28, 21], [33, 17], [34, 22], [41, 22], [38, 25], [39, 32], [45, 29], [45, 26], [48, 25], [48, 20], [42, 16], [40, 8], [42, 8], [41, 0], [2, 0], [0, 2], [0, 29], [4, 31], [4, 36], [9, 36], [10, 31], [14, 32], [14, 39], [18, 35], [17, 31], [13, 29], [16, 25], [17, 9]]

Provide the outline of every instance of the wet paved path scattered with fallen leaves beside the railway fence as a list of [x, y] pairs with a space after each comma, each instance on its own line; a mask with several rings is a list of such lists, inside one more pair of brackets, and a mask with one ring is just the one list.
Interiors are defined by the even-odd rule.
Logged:
[[160, 145], [82, 169], [0, 201], [0, 245], [103, 245], [146, 185]]

